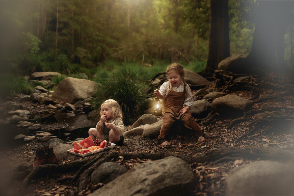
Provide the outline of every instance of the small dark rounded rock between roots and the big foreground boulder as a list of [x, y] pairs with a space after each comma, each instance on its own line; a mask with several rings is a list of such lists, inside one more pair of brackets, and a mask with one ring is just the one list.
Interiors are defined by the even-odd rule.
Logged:
[[91, 174], [91, 182], [93, 185], [98, 183], [107, 184], [116, 179], [118, 176], [126, 173], [128, 169], [122, 165], [113, 162], [106, 162], [99, 165], [99, 167]]

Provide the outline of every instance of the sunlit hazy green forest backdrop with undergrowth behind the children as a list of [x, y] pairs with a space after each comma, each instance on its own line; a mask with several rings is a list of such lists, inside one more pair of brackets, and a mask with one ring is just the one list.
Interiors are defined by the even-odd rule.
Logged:
[[[31, 93], [36, 84], [24, 76], [33, 72], [64, 74], [56, 85], [86, 75], [101, 85], [97, 106], [113, 98], [128, 118], [135, 117], [150, 92], [146, 81], [168, 64], [194, 72], [206, 67], [210, 5], [209, 0], [0, 1], [1, 96]], [[294, 1], [289, 5], [284, 60], [293, 70]], [[250, 53], [258, 11], [258, 1], [228, 1], [231, 56]]]

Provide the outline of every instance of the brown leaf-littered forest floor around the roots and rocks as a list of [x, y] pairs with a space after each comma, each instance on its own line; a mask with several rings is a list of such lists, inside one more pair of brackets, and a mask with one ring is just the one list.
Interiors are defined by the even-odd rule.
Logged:
[[[269, 75], [266, 79], [262, 80], [263, 83], [269, 83], [271, 86], [277, 88], [258, 89], [259, 94], [272, 94], [278, 96], [284, 93], [282, 88], [278, 88], [280, 84], [290, 84], [293, 88], [293, 80], [287, 75]], [[250, 80], [251, 83], [255, 83], [255, 80]], [[213, 87], [214, 84], [206, 87], [207, 89]], [[221, 89], [216, 89], [219, 92]], [[193, 91], [192, 94], [196, 92]], [[225, 92], [227, 94], [235, 94], [247, 99], [256, 101], [258, 97], [253, 91], [234, 90]], [[283, 96], [278, 99], [271, 99], [263, 102], [255, 102], [251, 110], [258, 110], [259, 107], [268, 103], [272, 107], [293, 107], [294, 95]], [[287, 110], [287, 114], [294, 115], [294, 110]], [[158, 116], [162, 118], [162, 116]], [[121, 153], [161, 153], [171, 152], [182, 154], [186, 156], [195, 156], [197, 153], [207, 153], [220, 147], [252, 147], [252, 148], [283, 148], [286, 150], [294, 151], [294, 131], [292, 129], [285, 129], [281, 131], [269, 132], [270, 127], [257, 130], [251, 136], [246, 136], [238, 143], [235, 141], [243, 134], [248, 133], [250, 130], [250, 123], [258, 119], [258, 117], [252, 117], [248, 121], [241, 122], [234, 126], [232, 129], [228, 129], [228, 125], [235, 118], [219, 118], [215, 122], [205, 125], [203, 122], [198, 123], [200, 128], [206, 132], [206, 140], [203, 143], [197, 143], [198, 138], [193, 134], [188, 135], [175, 135], [171, 140], [169, 146], [159, 146], [157, 139], [143, 138], [141, 136], [126, 136], [123, 146], [108, 149], [107, 151], [116, 151]], [[130, 125], [127, 126], [129, 129]], [[15, 195], [18, 186], [21, 181], [13, 179], [11, 183], [11, 174], [16, 170], [21, 170], [22, 167], [32, 167], [34, 161], [34, 154], [36, 149], [44, 146], [44, 143], [33, 141], [31, 143], [23, 143], [15, 147], [2, 148], [0, 150], [1, 156], [1, 170], [0, 175], [5, 176], [0, 181], [0, 195]], [[80, 157], [76, 155], [69, 155], [66, 160], [60, 160], [60, 164], [73, 162], [75, 160], [91, 159], [96, 154], [87, 157]], [[228, 158], [222, 162], [204, 162], [204, 163], [192, 163], [191, 168], [198, 176], [198, 184], [195, 190], [191, 192], [193, 195], [225, 195], [224, 180], [227, 173], [235, 167], [240, 165], [254, 162], [255, 160], [249, 160], [242, 157]], [[148, 161], [136, 159], [124, 159], [120, 156], [113, 162], [126, 166], [129, 170], [140, 163]], [[72, 175], [72, 174], [68, 174]], [[12, 179], [11, 179], [12, 180]], [[28, 185], [27, 190], [21, 195], [68, 195], [71, 187], [66, 185], [58, 185], [54, 179], [46, 180], [32, 180]], [[97, 188], [97, 187], [96, 187]], [[82, 195], [87, 195], [93, 190], [88, 188], [84, 190]]]

